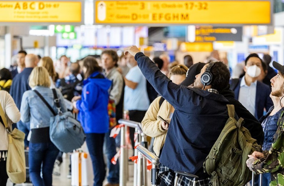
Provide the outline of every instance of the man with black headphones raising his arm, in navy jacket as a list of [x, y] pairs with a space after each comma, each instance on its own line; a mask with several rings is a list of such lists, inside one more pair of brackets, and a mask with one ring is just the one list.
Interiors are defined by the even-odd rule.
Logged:
[[[182, 171], [199, 176], [196, 186], [210, 185], [202, 166], [228, 119], [228, 100], [219, 94], [229, 84], [227, 66], [223, 62], [206, 64], [191, 88], [173, 83], [136, 46], [127, 47], [124, 53], [135, 56], [145, 78], [175, 108], [160, 157], [159, 177], [174, 185], [174, 171]], [[193, 181], [180, 176], [178, 185], [191, 186]]]

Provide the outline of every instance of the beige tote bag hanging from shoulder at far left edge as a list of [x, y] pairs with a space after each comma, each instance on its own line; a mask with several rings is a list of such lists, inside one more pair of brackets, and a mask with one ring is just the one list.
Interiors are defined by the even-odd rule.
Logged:
[[9, 137], [9, 147], [7, 154], [7, 174], [13, 183], [24, 183], [26, 181], [26, 160], [24, 152], [25, 133], [14, 129], [9, 129], [7, 120], [0, 104], [0, 116], [3, 120]]

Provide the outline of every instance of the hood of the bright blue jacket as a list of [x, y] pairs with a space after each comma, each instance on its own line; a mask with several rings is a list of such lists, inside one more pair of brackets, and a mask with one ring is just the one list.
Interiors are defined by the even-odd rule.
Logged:
[[[106, 79], [106, 78], [96, 78], [96, 76], [101, 75], [103, 76], [103, 74], [99, 73], [99, 72], [94, 72], [93, 74], [90, 75], [89, 78], [87, 78], [86, 80], [83, 81], [83, 84], [87, 84], [87, 83], [94, 83], [96, 85], [98, 85], [101, 89], [108, 91], [109, 87], [112, 84], [112, 81]], [[105, 77], [105, 76], [103, 76]]]

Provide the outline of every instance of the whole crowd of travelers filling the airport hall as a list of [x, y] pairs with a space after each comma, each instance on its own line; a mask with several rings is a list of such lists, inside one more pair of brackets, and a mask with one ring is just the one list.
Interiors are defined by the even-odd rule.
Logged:
[[[62, 55], [55, 62], [23, 50], [13, 59], [9, 69], [0, 70], [5, 113], [0, 118], [0, 186], [6, 186], [9, 177], [9, 137], [3, 120], [10, 131], [17, 128], [24, 133], [26, 174], [34, 186], [52, 186], [53, 175], [60, 175], [63, 152], [50, 139], [53, 113], [43, 101], [57, 112], [54, 92], [61, 112], [71, 111], [85, 132], [93, 186], [103, 186], [106, 170], [104, 186], [119, 186], [119, 162], [111, 161], [118, 145], [110, 132], [124, 118], [124, 110], [152, 138], [150, 146], [161, 163], [161, 185], [174, 185], [175, 171], [182, 171], [197, 175], [197, 186], [214, 186], [203, 163], [227, 124], [227, 105], [234, 106], [231, 119], [242, 118], [242, 126], [262, 145], [262, 151], [247, 154], [245, 168], [263, 174], [265, 186], [284, 185], [284, 66], [271, 64], [268, 54], [263, 58], [249, 54], [233, 69], [218, 51], [205, 62], [186, 55], [183, 62], [170, 63], [166, 54], [150, 59], [135, 46], [121, 56], [107, 49], [100, 60], [87, 56], [71, 62]], [[134, 133], [130, 128], [133, 149]], [[68, 178], [71, 171], [70, 166]], [[192, 186], [193, 181], [179, 176], [178, 185]]]

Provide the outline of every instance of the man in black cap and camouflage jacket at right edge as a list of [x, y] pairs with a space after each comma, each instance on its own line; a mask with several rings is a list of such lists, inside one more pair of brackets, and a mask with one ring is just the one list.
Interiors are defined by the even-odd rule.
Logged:
[[[272, 93], [280, 98], [280, 105], [283, 109], [284, 105], [284, 66], [273, 61], [273, 67], [279, 72], [270, 82]], [[247, 166], [253, 172], [258, 174], [271, 173], [270, 186], [284, 185], [284, 112], [281, 113], [278, 120], [278, 129], [274, 135], [274, 141], [269, 151], [253, 152], [249, 155]]]

